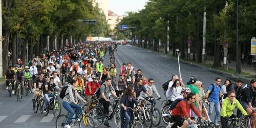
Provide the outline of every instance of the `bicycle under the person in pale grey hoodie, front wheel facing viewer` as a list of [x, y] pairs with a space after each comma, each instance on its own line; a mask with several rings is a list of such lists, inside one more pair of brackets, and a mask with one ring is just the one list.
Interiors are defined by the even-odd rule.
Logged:
[[153, 126], [158, 126], [161, 121], [160, 111], [155, 108], [156, 102], [154, 100], [159, 100], [155, 98], [148, 98], [147, 101], [152, 101], [151, 103], [148, 103], [147, 105], [151, 105], [151, 108], [149, 109], [152, 113], [152, 120], [153, 120]]

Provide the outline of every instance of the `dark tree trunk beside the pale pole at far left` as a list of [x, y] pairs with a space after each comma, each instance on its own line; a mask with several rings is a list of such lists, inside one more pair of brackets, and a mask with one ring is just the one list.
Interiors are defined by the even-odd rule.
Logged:
[[[3, 40], [3, 76], [5, 75], [5, 71], [8, 70], [8, 51], [9, 51], [9, 39], [10, 39], [10, 32], [5, 31], [4, 35], [4, 40]], [[12, 59], [12, 58], [10, 58]]]

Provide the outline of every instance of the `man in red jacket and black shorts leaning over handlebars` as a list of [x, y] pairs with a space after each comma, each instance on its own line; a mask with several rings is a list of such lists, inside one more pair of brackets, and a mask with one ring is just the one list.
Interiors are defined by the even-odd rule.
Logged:
[[[193, 93], [189, 93], [187, 95], [187, 98], [184, 100], [181, 100], [174, 108], [174, 110], [172, 111], [172, 120], [175, 122], [175, 124], [173, 125], [178, 125], [181, 128], [185, 128], [188, 125], [188, 121], [190, 123], [195, 123], [196, 121], [191, 119], [188, 115], [188, 111], [191, 109], [195, 112], [195, 114], [202, 118], [203, 120], [206, 120], [206, 117], [203, 117], [196, 109], [194, 102], [196, 100], [196, 95]], [[190, 108], [191, 106], [191, 108]], [[186, 117], [186, 119], [184, 119], [183, 117]]]

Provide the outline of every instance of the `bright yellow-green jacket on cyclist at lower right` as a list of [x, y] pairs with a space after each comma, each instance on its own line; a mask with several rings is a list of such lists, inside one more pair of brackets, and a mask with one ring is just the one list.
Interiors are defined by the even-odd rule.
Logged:
[[236, 98], [234, 98], [234, 101], [231, 104], [229, 98], [227, 97], [222, 103], [221, 116], [230, 117], [233, 114], [234, 108], [236, 108], [236, 106], [243, 115], [247, 115], [246, 111], [243, 109], [243, 106]]

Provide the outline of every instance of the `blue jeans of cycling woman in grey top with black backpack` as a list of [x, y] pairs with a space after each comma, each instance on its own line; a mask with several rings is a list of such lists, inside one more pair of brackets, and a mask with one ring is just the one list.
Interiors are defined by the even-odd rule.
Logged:
[[[78, 105], [78, 104], [75, 104], [75, 103], [68, 103], [68, 102], [66, 102], [66, 101], [63, 101], [62, 102], [62, 106], [63, 106], [63, 108], [65, 108], [69, 113], [70, 113], [70, 115], [69, 115], [69, 118], [68, 118], [68, 120], [67, 120], [67, 125], [70, 123], [70, 121], [71, 121], [71, 119], [72, 119], [72, 117], [74, 116], [74, 114], [75, 114], [75, 112], [74, 112], [74, 110], [72, 109], [72, 108], [75, 108], [76, 109], [76, 116], [78, 115], [78, 113], [80, 112], [80, 110], [81, 110], [81, 106], [80, 105]], [[77, 117], [76, 117], [77, 118]]]

